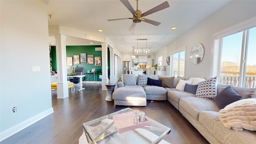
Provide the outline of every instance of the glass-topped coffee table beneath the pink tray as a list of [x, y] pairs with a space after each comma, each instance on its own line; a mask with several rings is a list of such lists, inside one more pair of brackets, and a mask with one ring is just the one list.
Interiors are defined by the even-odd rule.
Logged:
[[[126, 112], [133, 112], [131, 108], [125, 108], [117, 112], [113, 112], [106, 116], [96, 118], [89, 122], [83, 123], [84, 132], [89, 144], [158, 144], [164, 143], [163, 138], [167, 136], [171, 129], [159, 122], [156, 122], [146, 116], [150, 120], [150, 125], [140, 128], [128, 130], [119, 133], [113, 115]], [[162, 141], [161, 141], [162, 140]]]

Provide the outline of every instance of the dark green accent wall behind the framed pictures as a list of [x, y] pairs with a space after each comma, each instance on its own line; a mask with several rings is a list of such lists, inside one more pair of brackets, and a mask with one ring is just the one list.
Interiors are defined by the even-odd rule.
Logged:
[[[52, 48], [52, 70], [57, 70], [57, 62], [56, 62], [56, 46], [51, 46]], [[102, 51], [95, 51], [95, 48], [101, 48], [101, 45], [94, 45], [94, 46], [66, 46], [66, 55], [67, 57], [73, 57], [74, 55], [79, 55], [80, 53], [86, 53], [86, 55], [90, 54], [95, 56], [100, 56], [102, 58]], [[86, 58], [87, 60], [87, 58]], [[102, 60], [101, 60], [102, 64]], [[84, 67], [84, 72], [88, 70], [92, 70], [95, 68], [95, 72], [102, 68], [102, 66], [94, 66], [94, 64], [87, 64], [87, 62], [80, 62], [80, 64], [74, 64], [73, 60], [73, 67]], [[85, 74], [84, 80], [88, 78], [88, 74]], [[91, 76], [92, 74], [90, 74]], [[101, 81], [98, 74], [95, 76], [96, 81]], [[89, 78], [89, 81], [94, 81], [94, 76]]]

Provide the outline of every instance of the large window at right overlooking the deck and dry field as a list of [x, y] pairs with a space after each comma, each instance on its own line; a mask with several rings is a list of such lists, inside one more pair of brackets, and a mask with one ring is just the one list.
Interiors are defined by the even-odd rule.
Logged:
[[256, 27], [215, 40], [219, 47], [219, 82], [256, 88]]

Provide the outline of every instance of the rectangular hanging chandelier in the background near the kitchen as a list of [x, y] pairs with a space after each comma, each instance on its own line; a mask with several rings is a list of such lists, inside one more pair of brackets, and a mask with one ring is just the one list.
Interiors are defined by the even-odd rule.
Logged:
[[[146, 47], [139, 48], [139, 40], [146, 40]], [[137, 50], [132, 50], [133, 56], [150, 56], [151, 55], [151, 48], [148, 48], [148, 39], [137, 39]], [[135, 54], [134, 54], [135, 53]]]

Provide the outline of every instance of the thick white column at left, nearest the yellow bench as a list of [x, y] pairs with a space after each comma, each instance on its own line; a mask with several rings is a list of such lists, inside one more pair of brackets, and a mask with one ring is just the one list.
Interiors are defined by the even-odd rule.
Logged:
[[66, 36], [55, 34], [57, 59], [57, 98], [68, 97], [68, 82], [66, 72]]

